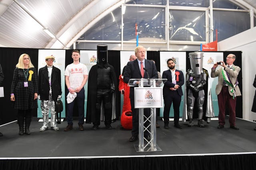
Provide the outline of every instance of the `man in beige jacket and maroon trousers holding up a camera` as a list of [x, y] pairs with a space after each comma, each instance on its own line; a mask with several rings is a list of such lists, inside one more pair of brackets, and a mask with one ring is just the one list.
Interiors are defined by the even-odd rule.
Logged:
[[237, 81], [237, 76], [241, 69], [233, 64], [236, 60], [234, 54], [229, 54], [226, 59], [227, 64], [224, 61], [215, 63], [211, 71], [212, 78], [218, 77], [218, 84], [216, 85], [219, 106], [218, 129], [224, 128], [225, 109], [228, 107], [230, 128], [239, 130], [236, 126], [236, 96], [241, 96]]

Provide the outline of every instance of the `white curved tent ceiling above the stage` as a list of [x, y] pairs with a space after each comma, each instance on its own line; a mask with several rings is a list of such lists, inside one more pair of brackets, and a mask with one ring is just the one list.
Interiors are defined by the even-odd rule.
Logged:
[[[63, 49], [129, 0], [0, 0], [0, 46]], [[230, 0], [256, 14], [256, 0]], [[56, 38], [51, 38], [48, 29]]]

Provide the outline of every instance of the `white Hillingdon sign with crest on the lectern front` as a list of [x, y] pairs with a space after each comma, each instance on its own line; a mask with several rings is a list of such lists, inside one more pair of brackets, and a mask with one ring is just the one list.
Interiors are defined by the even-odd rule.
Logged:
[[134, 88], [135, 108], [160, 108], [163, 107], [163, 90], [160, 87]]

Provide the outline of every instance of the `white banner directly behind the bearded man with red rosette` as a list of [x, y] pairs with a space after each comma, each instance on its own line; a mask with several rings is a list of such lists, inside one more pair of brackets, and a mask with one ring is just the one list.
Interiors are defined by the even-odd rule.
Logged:
[[[165, 70], [169, 69], [168, 66], [167, 66], [167, 60], [168, 59], [174, 59], [175, 67], [176, 67], [177, 70], [181, 70], [183, 72], [184, 81], [185, 81], [186, 52], [160, 51], [161, 74], [163, 74], [163, 72]], [[184, 85], [182, 86], [182, 91], [184, 93]], [[183, 105], [184, 105], [184, 96], [182, 96], [181, 103], [180, 103], [180, 117], [182, 117]], [[163, 117], [163, 113], [164, 113], [164, 108], [160, 108], [160, 117]], [[173, 106], [171, 106], [169, 117], [174, 117]]]

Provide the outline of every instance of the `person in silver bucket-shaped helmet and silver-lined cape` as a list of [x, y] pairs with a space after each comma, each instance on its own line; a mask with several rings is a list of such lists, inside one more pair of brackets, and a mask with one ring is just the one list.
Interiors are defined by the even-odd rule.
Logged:
[[210, 123], [214, 117], [209, 74], [203, 68], [204, 52], [189, 53], [191, 69], [186, 72], [186, 86], [184, 95], [184, 109], [182, 119], [189, 121], [188, 127], [194, 125], [198, 118], [198, 126], [204, 127], [203, 120]]

